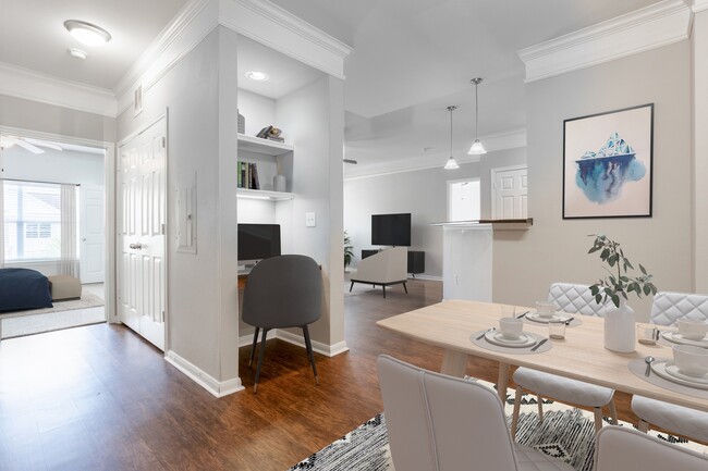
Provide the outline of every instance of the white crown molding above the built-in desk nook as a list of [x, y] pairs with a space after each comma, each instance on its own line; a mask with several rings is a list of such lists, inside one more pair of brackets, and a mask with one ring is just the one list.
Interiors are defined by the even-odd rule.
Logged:
[[268, 0], [220, 0], [219, 24], [344, 79], [352, 48]]

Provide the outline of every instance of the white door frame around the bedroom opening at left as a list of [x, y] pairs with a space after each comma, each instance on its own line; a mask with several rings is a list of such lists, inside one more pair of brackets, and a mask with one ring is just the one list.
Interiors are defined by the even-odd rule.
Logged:
[[0, 125], [0, 133], [103, 149], [103, 214], [106, 215], [103, 303], [106, 321], [118, 322], [115, 305], [115, 142], [2, 125]]

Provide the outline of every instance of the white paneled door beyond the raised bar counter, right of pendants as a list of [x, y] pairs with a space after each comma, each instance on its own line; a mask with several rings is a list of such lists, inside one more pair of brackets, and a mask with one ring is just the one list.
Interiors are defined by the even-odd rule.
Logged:
[[525, 219], [528, 214], [526, 166], [491, 170], [492, 219]]

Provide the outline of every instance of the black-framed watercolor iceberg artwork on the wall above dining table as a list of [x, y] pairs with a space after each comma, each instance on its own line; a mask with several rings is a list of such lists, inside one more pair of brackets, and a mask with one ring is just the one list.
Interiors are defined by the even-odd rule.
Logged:
[[563, 219], [650, 218], [654, 103], [563, 121]]

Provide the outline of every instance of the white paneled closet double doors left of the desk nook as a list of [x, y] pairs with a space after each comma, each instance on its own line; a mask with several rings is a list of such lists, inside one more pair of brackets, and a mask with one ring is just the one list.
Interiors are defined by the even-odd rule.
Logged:
[[167, 120], [121, 146], [119, 317], [164, 350]]

